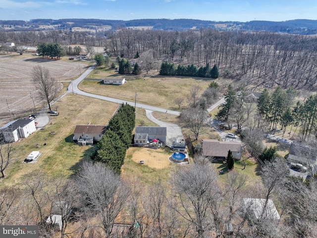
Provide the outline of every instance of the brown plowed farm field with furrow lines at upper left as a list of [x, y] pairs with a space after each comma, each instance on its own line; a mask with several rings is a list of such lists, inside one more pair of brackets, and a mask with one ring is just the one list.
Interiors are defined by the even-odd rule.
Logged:
[[[32, 69], [36, 65], [47, 68], [51, 76], [61, 83], [78, 76], [87, 64], [78, 61], [42, 59], [26, 53], [0, 55], [0, 125], [10, 119], [17, 119], [46, 106], [37, 100], [35, 84], [32, 82]], [[31, 94], [30, 94], [31, 93]], [[10, 111], [9, 111], [10, 110]]]

